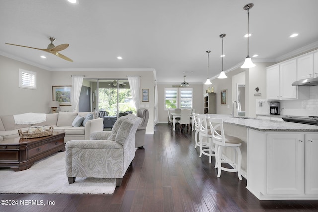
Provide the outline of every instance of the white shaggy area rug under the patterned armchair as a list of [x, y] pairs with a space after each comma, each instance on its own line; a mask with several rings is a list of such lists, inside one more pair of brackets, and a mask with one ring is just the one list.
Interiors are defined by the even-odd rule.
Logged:
[[65, 152], [58, 152], [35, 162], [31, 168], [13, 171], [0, 169], [0, 193], [26, 194], [112, 194], [115, 179], [80, 178], [68, 183]]

